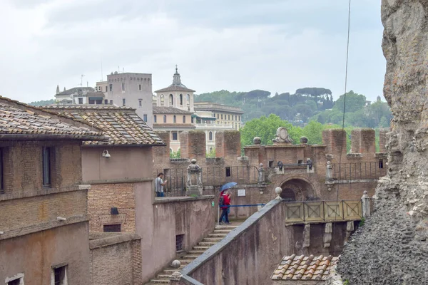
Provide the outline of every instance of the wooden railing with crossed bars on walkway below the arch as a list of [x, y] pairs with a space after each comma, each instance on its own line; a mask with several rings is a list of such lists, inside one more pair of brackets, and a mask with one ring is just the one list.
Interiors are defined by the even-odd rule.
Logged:
[[285, 222], [340, 222], [362, 219], [360, 199], [285, 202]]

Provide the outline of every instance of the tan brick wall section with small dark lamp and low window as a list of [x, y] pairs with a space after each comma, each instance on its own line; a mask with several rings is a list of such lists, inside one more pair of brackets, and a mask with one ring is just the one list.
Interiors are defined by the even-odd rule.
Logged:
[[[119, 214], [110, 214], [111, 207]], [[133, 183], [93, 184], [88, 190], [89, 230], [103, 232], [104, 224], [121, 224], [121, 232], [136, 232], [135, 208]]]

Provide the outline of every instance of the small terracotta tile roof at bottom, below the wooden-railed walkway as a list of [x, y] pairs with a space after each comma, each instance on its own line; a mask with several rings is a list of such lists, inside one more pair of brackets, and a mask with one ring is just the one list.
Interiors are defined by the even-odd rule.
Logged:
[[331, 266], [335, 265], [337, 257], [314, 257], [310, 255], [297, 256], [293, 254], [290, 257], [282, 258], [275, 272], [272, 274], [272, 280], [325, 280], [330, 275]]

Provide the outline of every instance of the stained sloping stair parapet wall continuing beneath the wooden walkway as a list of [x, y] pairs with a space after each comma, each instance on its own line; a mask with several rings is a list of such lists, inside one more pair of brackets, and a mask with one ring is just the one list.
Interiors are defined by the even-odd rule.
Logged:
[[[337, 256], [342, 251], [347, 238], [346, 222], [338, 222], [332, 227], [333, 238], [330, 246], [325, 247], [326, 224], [284, 226], [280, 221], [285, 217], [285, 210], [282, 200], [272, 200], [186, 266], [182, 274], [201, 284], [271, 284], [270, 276], [285, 255]], [[198, 283], [183, 279], [181, 283], [173, 284]]]

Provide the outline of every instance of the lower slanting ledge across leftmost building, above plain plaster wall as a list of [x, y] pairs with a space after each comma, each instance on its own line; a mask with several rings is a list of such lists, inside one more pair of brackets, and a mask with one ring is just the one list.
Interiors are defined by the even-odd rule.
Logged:
[[4, 234], [0, 235], [0, 241], [3, 239], [11, 239], [12, 237], [21, 237], [26, 234], [33, 234], [35, 232], [46, 231], [47, 229], [54, 229], [56, 227], [63, 227], [68, 224], [76, 224], [79, 222], [88, 222], [87, 215], [78, 215], [73, 217], [66, 217], [65, 221], [58, 221], [57, 219], [49, 222], [31, 224], [30, 226], [20, 227], [18, 229], [0, 229]]

